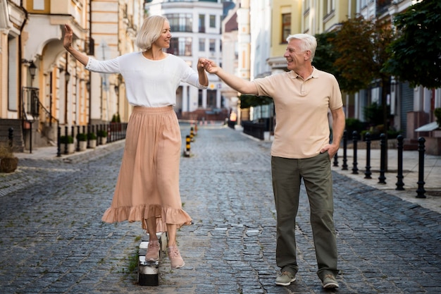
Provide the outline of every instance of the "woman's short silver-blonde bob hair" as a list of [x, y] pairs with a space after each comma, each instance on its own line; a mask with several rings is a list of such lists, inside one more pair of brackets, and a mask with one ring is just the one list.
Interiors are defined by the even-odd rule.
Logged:
[[164, 16], [149, 16], [144, 19], [135, 44], [139, 49], [148, 50], [161, 37], [162, 27], [168, 21]]

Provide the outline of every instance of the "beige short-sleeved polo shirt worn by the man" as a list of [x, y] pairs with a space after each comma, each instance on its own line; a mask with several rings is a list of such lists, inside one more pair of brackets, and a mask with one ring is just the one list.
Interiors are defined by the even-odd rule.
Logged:
[[343, 105], [334, 75], [313, 68], [306, 80], [290, 71], [253, 82], [259, 96], [274, 99], [273, 157], [315, 157], [329, 144], [328, 109], [339, 109]]

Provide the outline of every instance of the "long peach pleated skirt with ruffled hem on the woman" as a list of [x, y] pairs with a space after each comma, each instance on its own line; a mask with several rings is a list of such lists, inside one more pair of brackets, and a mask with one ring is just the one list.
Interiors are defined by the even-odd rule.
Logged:
[[166, 224], [189, 225], [179, 191], [181, 133], [173, 106], [135, 106], [125, 137], [125, 148], [111, 207], [102, 220], [142, 221], [156, 218], [156, 232]]

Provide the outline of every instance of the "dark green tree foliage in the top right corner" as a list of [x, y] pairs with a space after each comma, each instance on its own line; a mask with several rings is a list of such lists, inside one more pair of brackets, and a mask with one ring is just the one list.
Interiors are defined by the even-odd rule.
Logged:
[[441, 87], [441, 1], [424, 0], [395, 16], [397, 38], [385, 71], [411, 87]]

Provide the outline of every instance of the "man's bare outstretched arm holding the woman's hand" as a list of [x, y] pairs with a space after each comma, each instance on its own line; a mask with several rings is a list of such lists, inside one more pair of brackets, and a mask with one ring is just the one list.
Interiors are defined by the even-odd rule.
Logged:
[[258, 94], [254, 82], [244, 80], [236, 75], [223, 71], [220, 66], [217, 66], [216, 63], [209, 59], [204, 61], [204, 68], [207, 72], [217, 75], [219, 78], [221, 78], [221, 80], [223, 80], [223, 82], [225, 82], [225, 84], [232, 87], [232, 89], [236, 90], [237, 92], [242, 94]]

